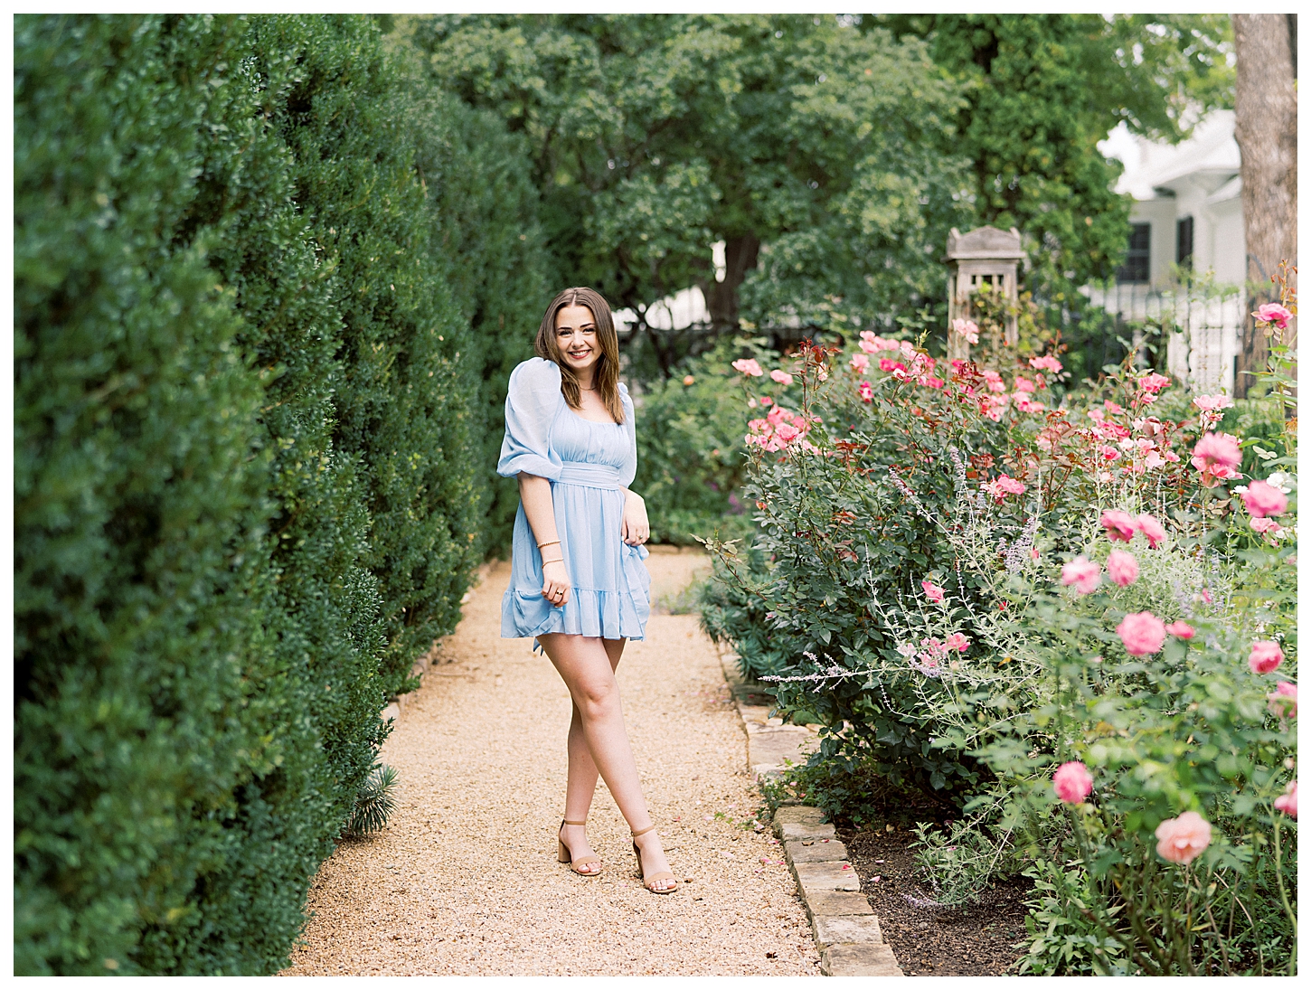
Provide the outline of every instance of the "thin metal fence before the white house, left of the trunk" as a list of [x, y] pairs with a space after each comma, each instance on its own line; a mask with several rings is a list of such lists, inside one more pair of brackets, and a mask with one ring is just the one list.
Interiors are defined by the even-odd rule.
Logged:
[[1088, 300], [1117, 320], [1160, 328], [1165, 365], [1194, 392], [1234, 393], [1234, 371], [1247, 306], [1239, 288], [1124, 283], [1088, 286]]

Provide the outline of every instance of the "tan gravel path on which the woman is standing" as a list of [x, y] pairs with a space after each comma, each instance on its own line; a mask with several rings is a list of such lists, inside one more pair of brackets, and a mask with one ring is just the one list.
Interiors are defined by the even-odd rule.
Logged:
[[[703, 559], [654, 549], [653, 598], [670, 601]], [[509, 574], [486, 573], [406, 704], [383, 749], [392, 822], [324, 863], [286, 974], [818, 974], [781, 850], [742, 825], [758, 806], [746, 737], [695, 615], [653, 615], [619, 666], [648, 804], [691, 880], [641, 888], [604, 784], [589, 821], [604, 872], [556, 861], [569, 694], [531, 640], [499, 637]]]

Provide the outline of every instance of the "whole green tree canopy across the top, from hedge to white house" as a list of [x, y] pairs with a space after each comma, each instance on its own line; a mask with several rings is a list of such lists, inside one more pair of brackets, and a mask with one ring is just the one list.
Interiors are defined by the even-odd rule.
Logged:
[[[1210, 14], [397, 17], [522, 138], [562, 278], [716, 330], [886, 327], [940, 304], [950, 227], [1019, 227], [1049, 302], [1127, 239], [1124, 121], [1177, 139], [1230, 93]], [[716, 271], [711, 245], [724, 241]], [[1076, 302], [1076, 300], [1075, 300]], [[787, 336], [787, 334], [784, 334]], [[662, 370], [687, 344], [650, 332]]]

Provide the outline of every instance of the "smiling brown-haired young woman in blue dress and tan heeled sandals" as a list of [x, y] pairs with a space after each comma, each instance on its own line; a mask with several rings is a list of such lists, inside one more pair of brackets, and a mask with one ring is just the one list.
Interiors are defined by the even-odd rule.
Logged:
[[566, 288], [547, 307], [534, 349], [510, 374], [497, 464], [519, 479], [501, 636], [535, 637], [573, 696], [560, 861], [582, 876], [600, 872], [583, 829], [599, 772], [632, 829], [646, 889], [673, 893], [615, 682], [624, 643], [642, 639], [650, 615], [650, 526], [628, 490], [637, 431], [610, 306], [591, 288]]

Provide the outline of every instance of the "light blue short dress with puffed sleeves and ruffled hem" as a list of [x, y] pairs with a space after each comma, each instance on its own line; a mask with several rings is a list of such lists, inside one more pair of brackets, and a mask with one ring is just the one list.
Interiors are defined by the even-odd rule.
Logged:
[[[619, 395], [624, 422], [593, 422], [569, 408], [555, 362], [530, 358], [510, 374], [497, 473], [514, 477], [522, 471], [551, 480], [560, 552], [573, 589], [562, 606], [543, 597], [541, 551], [520, 502], [510, 587], [501, 599], [502, 639], [548, 632], [642, 639], [650, 616], [646, 548], [620, 535], [620, 489], [637, 472], [637, 430], [623, 384]], [[555, 549], [547, 547], [552, 557]]]

